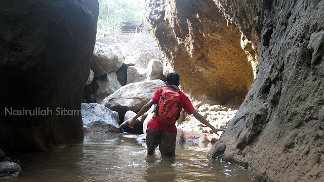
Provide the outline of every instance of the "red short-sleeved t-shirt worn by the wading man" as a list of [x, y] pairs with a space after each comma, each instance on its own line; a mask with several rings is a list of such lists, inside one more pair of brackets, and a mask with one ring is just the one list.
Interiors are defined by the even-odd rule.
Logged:
[[[174, 88], [168, 87], [168, 89], [173, 89], [176, 90]], [[158, 100], [160, 98], [160, 95], [162, 94], [163, 89], [162, 88], [157, 88], [155, 90], [155, 93], [153, 95], [153, 97], [151, 99], [154, 100], [154, 104], [158, 103]], [[194, 107], [192, 106], [191, 101], [189, 100], [188, 96], [186, 96], [183, 92], [180, 91], [180, 107], [179, 107], [179, 112], [183, 109], [186, 113], [188, 114], [192, 114], [192, 111], [195, 110]], [[174, 133], [175, 135], [177, 135], [177, 127], [175, 124], [171, 124], [171, 125], [166, 125], [163, 123], [158, 122], [156, 119], [152, 118], [150, 119], [150, 121], [147, 124], [147, 128], [146, 130], [149, 129], [162, 129], [162, 130], [167, 130], [170, 131], [172, 133]]]

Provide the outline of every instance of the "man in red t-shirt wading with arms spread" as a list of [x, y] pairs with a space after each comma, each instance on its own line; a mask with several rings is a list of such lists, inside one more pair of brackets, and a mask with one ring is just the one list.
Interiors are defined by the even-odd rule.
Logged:
[[161, 155], [175, 155], [177, 136], [175, 122], [179, 118], [182, 109], [188, 114], [193, 114], [198, 121], [210, 127], [216, 134], [217, 131], [226, 129], [216, 129], [194, 109], [189, 98], [179, 90], [179, 80], [178, 73], [169, 73], [166, 82], [168, 87], [156, 89], [151, 100], [129, 122], [129, 127], [133, 128], [136, 119], [147, 112], [153, 104], [157, 104], [154, 116], [150, 119], [146, 128], [148, 155], [153, 155], [158, 145]]

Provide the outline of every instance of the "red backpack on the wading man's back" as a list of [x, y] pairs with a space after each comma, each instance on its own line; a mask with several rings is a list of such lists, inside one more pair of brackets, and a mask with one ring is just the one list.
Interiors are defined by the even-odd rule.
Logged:
[[153, 118], [163, 124], [174, 124], [179, 119], [180, 90], [163, 87]]

